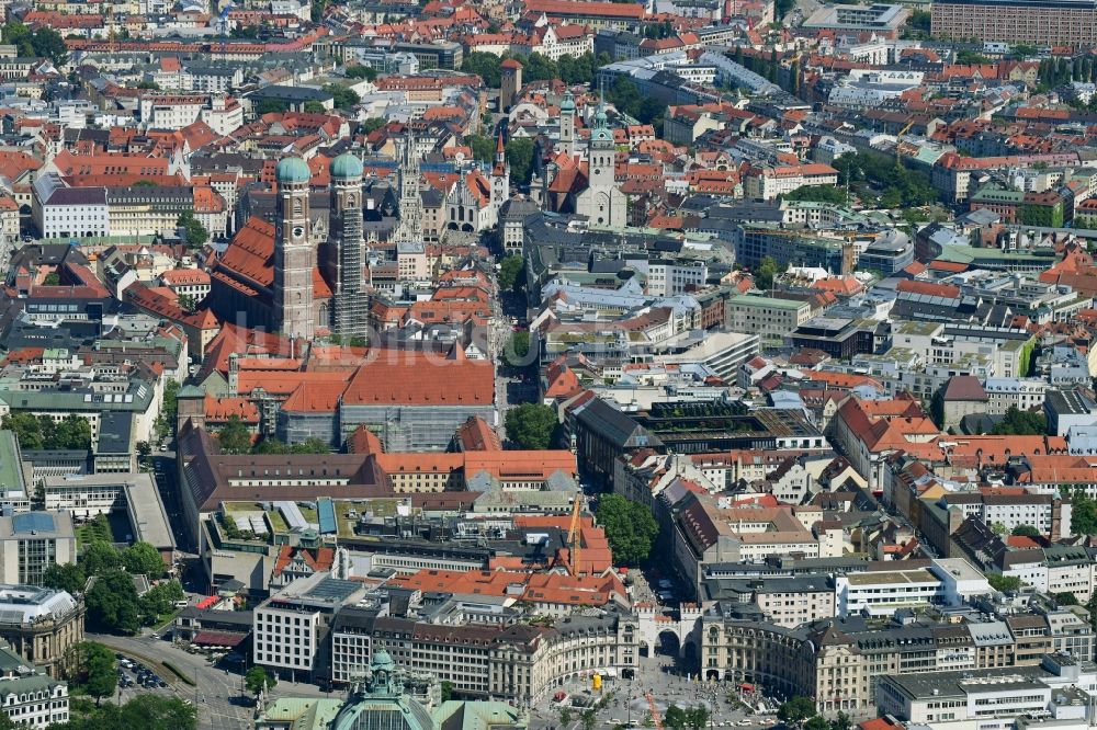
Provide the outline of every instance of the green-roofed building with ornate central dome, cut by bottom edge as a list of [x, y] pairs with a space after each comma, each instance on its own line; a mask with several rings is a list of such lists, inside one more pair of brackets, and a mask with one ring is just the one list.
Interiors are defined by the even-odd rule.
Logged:
[[256, 728], [292, 730], [525, 730], [528, 715], [507, 703], [451, 699], [428, 708], [406, 692], [404, 671], [384, 649], [352, 683], [346, 699], [283, 697]]

